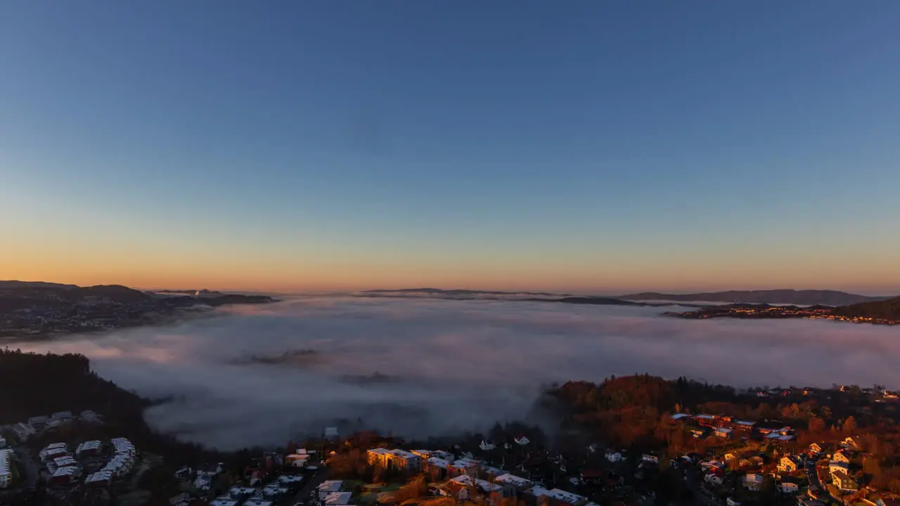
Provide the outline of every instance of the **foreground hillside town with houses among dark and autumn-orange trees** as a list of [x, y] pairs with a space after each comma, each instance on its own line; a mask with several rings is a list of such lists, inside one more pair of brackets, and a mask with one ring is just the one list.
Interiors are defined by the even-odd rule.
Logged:
[[150, 431], [148, 402], [85, 357], [4, 351], [0, 365], [6, 384], [36, 374], [40, 393], [0, 395], [0, 504], [887, 506], [900, 494], [900, 396], [884, 385], [613, 376], [548, 386], [541, 427], [408, 440], [338, 423], [226, 453]]

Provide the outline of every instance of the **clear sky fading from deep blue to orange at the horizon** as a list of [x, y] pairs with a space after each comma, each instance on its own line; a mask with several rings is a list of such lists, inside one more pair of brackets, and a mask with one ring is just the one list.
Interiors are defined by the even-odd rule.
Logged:
[[0, 3], [0, 279], [900, 292], [900, 2]]

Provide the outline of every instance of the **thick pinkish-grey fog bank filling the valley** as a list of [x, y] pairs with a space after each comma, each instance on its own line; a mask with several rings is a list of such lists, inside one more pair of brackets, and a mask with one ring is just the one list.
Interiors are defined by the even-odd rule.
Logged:
[[342, 427], [422, 437], [521, 420], [542, 384], [687, 375], [750, 385], [900, 387], [900, 330], [831, 321], [693, 321], [678, 307], [298, 298], [29, 348], [78, 352], [148, 396], [149, 423], [224, 449]]

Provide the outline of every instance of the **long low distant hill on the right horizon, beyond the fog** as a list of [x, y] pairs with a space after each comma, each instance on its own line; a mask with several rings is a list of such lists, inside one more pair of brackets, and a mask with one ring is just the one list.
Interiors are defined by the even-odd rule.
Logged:
[[698, 294], [661, 294], [644, 292], [617, 297], [630, 301], [707, 301], [711, 303], [770, 303], [770, 304], [823, 304], [843, 306], [855, 303], [884, 301], [890, 297], [848, 294], [836, 290], [730, 290], [727, 292], [706, 292]]

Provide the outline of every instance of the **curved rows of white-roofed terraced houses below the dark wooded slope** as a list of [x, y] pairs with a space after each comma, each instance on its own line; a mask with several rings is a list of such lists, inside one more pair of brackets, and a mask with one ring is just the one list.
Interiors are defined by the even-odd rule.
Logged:
[[[98, 471], [88, 474], [85, 484], [107, 485], [112, 478], [130, 472], [138, 452], [126, 438], [114, 438], [110, 442], [112, 457]], [[69, 453], [66, 443], [52, 443], [40, 450], [40, 461], [47, 466], [51, 486], [64, 486], [76, 482], [84, 472], [82, 462], [86, 458], [99, 457], [103, 453], [100, 441], [85, 441], [75, 449], [74, 455]], [[77, 458], [76, 458], [77, 457]]]

